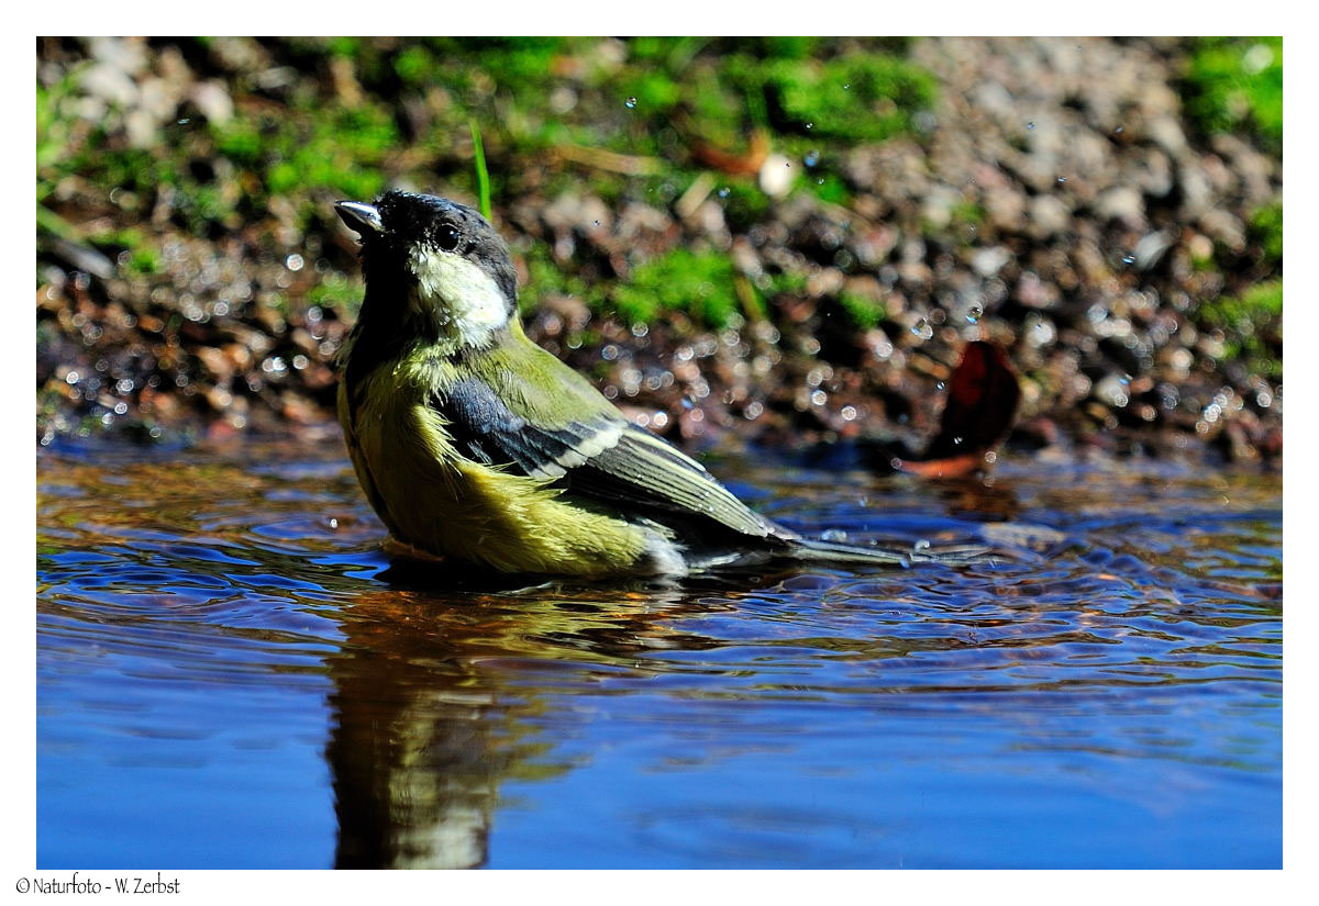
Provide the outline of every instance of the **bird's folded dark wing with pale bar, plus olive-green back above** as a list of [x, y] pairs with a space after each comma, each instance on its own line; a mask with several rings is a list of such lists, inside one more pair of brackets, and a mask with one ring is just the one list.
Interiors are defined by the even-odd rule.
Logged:
[[[613, 510], [708, 519], [757, 537], [786, 535], [699, 462], [629, 424], [576, 371], [524, 342], [481, 361], [431, 400], [472, 460], [553, 479]], [[517, 362], [510, 354], [536, 358]]]

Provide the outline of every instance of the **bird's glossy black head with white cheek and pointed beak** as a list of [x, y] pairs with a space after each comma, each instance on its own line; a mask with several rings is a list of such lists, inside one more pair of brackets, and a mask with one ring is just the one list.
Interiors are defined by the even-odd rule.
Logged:
[[361, 237], [364, 315], [405, 306], [397, 312], [400, 328], [414, 324], [458, 348], [487, 345], [516, 317], [517, 271], [508, 244], [476, 211], [400, 191], [375, 203], [338, 201], [335, 211]]

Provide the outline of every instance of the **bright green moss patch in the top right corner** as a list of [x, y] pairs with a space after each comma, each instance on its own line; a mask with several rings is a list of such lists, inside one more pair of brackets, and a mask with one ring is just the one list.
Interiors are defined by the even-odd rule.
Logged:
[[1282, 153], [1282, 38], [1199, 38], [1186, 70], [1186, 112], [1207, 134], [1245, 132]]

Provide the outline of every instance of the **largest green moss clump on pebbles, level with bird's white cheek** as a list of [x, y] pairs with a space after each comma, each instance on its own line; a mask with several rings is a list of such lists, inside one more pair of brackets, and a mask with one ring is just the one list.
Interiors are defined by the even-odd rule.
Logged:
[[681, 311], [710, 327], [724, 327], [740, 308], [728, 257], [685, 248], [637, 267], [632, 280], [613, 291], [613, 304], [632, 323], [652, 321], [663, 311]]

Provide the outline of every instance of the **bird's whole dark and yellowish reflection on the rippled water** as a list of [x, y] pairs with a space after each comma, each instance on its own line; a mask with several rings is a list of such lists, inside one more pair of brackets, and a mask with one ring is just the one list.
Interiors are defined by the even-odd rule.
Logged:
[[[530, 718], [543, 693], [526, 682], [529, 664], [580, 676], [630, 669], [656, 648], [720, 644], [671, 628], [710, 608], [710, 583], [434, 593], [398, 587], [414, 579], [408, 572], [381, 577], [394, 587], [344, 608], [347, 637], [328, 662], [339, 868], [485, 864], [501, 781], [570, 769], [546, 764], [537, 741]], [[753, 583], [719, 585], [732, 602]]]

